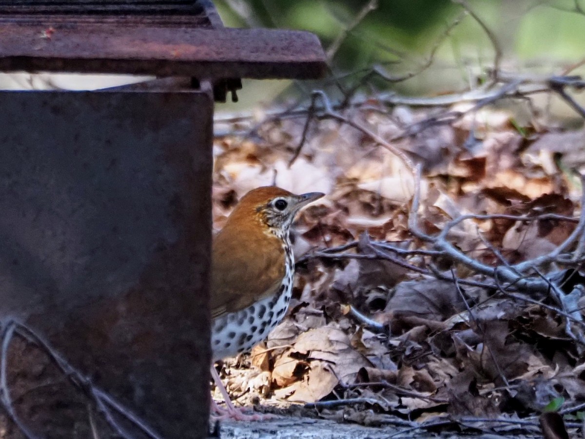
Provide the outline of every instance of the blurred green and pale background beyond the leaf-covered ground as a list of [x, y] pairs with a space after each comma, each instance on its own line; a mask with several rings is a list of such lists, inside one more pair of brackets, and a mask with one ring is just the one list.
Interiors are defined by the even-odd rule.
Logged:
[[[307, 95], [472, 90], [497, 63], [514, 75], [581, 74], [585, 0], [216, 0], [226, 26], [309, 30], [328, 54], [319, 83], [245, 81], [229, 111]], [[372, 73], [373, 69], [377, 73]], [[383, 78], [386, 76], [386, 79]], [[260, 88], [261, 87], [261, 88]], [[570, 113], [567, 113], [569, 116]]]

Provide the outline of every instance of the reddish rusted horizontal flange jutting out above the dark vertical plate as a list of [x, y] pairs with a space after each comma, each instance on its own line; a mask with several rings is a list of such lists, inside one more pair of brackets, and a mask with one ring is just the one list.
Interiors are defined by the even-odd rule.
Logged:
[[[49, 33], [47, 33], [49, 29]], [[309, 32], [121, 23], [0, 22], [0, 71], [319, 78], [325, 54]]]

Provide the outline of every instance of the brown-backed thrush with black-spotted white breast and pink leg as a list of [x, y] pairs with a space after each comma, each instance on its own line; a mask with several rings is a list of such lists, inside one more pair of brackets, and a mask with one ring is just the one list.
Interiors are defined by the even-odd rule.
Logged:
[[325, 194], [295, 195], [276, 186], [249, 191], [215, 235], [211, 258], [211, 375], [227, 410], [221, 417], [261, 419], [233, 406], [213, 363], [249, 351], [283, 319], [292, 294], [290, 228], [298, 211]]

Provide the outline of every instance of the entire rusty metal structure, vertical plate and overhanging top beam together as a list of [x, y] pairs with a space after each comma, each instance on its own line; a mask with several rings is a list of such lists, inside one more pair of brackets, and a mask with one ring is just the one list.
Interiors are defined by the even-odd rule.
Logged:
[[324, 59], [208, 0], [0, 0], [0, 71], [157, 77], [0, 91], [4, 437], [207, 437], [214, 100]]

